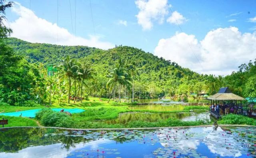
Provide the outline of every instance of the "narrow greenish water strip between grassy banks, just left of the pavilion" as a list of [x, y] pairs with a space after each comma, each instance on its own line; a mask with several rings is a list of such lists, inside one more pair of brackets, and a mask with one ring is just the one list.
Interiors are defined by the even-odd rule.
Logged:
[[148, 112], [126, 112], [119, 114], [118, 118], [113, 120], [108, 120], [106, 123], [108, 124], [116, 124], [122, 123], [126, 124], [130, 121], [148, 121], [148, 122], [155, 122], [160, 119], [167, 119], [167, 118], [177, 118], [183, 121], [196, 121], [196, 120], [214, 120], [210, 117], [209, 112], [204, 113], [194, 113], [194, 112], [177, 112], [177, 113], [148, 113]]

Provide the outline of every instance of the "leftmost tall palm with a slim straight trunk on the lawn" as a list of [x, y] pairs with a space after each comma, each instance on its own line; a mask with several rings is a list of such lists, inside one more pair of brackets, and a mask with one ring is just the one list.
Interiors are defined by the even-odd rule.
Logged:
[[59, 77], [68, 78], [68, 104], [70, 103], [70, 91], [71, 91], [71, 78], [74, 76], [74, 67], [77, 67], [76, 60], [71, 59], [70, 56], [67, 56], [60, 66]]

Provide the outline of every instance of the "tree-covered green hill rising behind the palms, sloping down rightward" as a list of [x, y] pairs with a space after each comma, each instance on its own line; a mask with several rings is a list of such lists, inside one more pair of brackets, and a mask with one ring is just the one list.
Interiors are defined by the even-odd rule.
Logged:
[[[182, 68], [175, 62], [158, 58], [134, 47], [118, 46], [109, 50], [101, 50], [88, 46], [30, 43], [17, 38], [8, 38], [6, 42], [14, 49], [14, 52], [26, 56], [29, 62], [57, 65], [64, 57], [70, 55], [71, 58], [77, 58], [81, 62], [94, 63], [97, 73], [102, 76], [108, 74], [114, 62], [121, 58], [133, 73], [136, 90], [139, 86], [150, 96], [175, 93], [181, 95], [206, 90], [203, 85], [207, 75], [199, 75], [188, 68]], [[182, 84], [183, 86], [180, 86]]]

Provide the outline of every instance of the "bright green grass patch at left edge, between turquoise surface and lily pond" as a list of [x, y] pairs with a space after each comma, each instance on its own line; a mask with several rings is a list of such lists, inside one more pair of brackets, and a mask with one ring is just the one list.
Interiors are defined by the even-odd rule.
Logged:
[[[14, 127], [14, 126], [38, 126], [35, 120], [24, 117], [14, 117], [14, 116], [0, 116], [1, 120], [4, 118], [8, 120], [8, 124], [4, 127]], [[2, 125], [1, 125], [2, 127]]]

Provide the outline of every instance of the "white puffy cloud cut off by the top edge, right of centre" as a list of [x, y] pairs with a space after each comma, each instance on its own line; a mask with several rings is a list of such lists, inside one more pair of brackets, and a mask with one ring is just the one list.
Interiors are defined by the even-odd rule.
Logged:
[[170, 7], [167, 0], [136, 0], [135, 4], [139, 9], [136, 15], [138, 24], [143, 30], [150, 30], [153, 27], [153, 20], [162, 24]]

